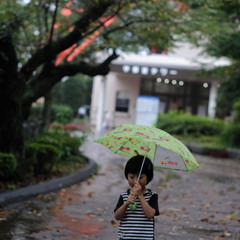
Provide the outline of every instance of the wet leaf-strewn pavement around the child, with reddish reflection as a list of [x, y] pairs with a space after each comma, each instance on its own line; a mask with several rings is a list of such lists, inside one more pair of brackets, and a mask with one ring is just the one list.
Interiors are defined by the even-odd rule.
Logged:
[[[0, 240], [116, 239], [113, 209], [128, 187], [127, 159], [91, 140], [82, 150], [99, 165], [98, 174], [0, 209]], [[240, 160], [195, 157], [201, 169], [155, 170], [148, 186], [159, 194], [156, 239], [240, 240]]]

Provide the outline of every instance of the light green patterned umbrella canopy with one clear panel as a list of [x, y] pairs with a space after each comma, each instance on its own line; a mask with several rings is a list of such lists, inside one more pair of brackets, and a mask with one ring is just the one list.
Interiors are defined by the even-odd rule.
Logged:
[[189, 171], [200, 167], [181, 141], [155, 127], [123, 124], [95, 142], [129, 158], [136, 155], [146, 156], [159, 168]]

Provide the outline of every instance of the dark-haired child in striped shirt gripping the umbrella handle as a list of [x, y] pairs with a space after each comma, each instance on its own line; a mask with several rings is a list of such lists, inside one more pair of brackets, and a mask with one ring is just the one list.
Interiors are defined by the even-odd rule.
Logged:
[[125, 167], [125, 177], [131, 190], [120, 194], [114, 210], [116, 220], [120, 220], [119, 239], [154, 239], [154, 216], [159, 215], [158, 195], [146, 188], [153, 179], [153, 164], [148, 158], [145, 158], [137, 182], [143, 160], [144, 156], [141, 155], [132, 157]]

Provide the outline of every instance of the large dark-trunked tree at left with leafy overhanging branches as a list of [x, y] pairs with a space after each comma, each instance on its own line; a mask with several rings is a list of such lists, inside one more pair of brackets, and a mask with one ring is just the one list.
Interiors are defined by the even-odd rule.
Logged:
[[32, 103], [63, 77], [106, 75], [116, 49], [166, 49], [183, 26], [182, 4], [168, 0], [9, 0], [0, 8], [0, 151], [20, 155]]

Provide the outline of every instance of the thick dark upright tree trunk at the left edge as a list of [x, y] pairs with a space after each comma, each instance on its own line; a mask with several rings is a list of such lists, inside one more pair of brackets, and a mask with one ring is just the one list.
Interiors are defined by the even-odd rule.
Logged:
[[24, 169], [22, 96], [25, 85], [9, 35], [0, 39], [0, 152], [13, 153]]

